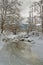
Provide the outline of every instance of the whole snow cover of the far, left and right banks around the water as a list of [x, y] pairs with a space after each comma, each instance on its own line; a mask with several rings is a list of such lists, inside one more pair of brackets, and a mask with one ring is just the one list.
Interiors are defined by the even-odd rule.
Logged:
[[[36, 53], [40, 58], [43, 58], [43, 35], [36, 35], [36, 32], [34, 32], [35, 34], [32, 35], [33, 32], [31, 32], [28, 36], [28, 38], [25, 38], [25, 35], [27, 35], [26, 32], [19, 32], [17, 35], [13, 35], [13, 34], [9, 34], [9, 35], [4, 35], [4, 34], [0, 34], [0, 50], [3, 48], [4, 46], [4, 42], [2, 41], [3, 39], [9, 39], [10, 43], [11, 42], [18, 42], [20, 41], [20, 39], [24, 39], [24, 43], [27, 44], [28, 46], [30, 45], [32, 48], [32, 52]], [[9, 42], [8, 40], [8, 42]], [[30, 40], [31, 42], [28, 42], [28, 40]], [[32, 44], [32, 45], [31, 45]]]

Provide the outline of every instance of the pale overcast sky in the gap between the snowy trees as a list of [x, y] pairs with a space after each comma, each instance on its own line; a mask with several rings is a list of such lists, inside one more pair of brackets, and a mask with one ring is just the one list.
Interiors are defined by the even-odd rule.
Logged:
[[34, 1], [39, 1], [39, 0], [21, 0], [23, 2], [22, 8], [21, 8], [21, 15], [23, 17], [28, 17], [29, 16], [29, 6], [32, 4]]

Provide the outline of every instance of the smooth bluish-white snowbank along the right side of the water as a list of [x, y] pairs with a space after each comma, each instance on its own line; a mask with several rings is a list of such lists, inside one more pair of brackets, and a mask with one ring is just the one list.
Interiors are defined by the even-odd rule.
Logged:
[[43, 36], [39, 37], [29, 37], [30, 40], [34, 40], [34, 45], [32, 45], [32, 52], [36, 53], [40, 58], [43, 58]]

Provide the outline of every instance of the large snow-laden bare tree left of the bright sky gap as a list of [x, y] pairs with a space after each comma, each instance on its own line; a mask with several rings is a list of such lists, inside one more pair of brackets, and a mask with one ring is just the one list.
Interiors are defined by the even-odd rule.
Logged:
[[21, 4], [18, 0], [1, 0], [0, 11], [1, 11], [1, 33], [3, 33], [3, 26], [5, 22], [11, 20], [12, 22], [18, 22], [20, 19], [20, 7]]

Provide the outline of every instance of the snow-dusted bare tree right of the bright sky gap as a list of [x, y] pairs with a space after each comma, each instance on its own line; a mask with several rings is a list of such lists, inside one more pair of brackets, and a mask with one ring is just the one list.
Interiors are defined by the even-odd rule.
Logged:
[[[40, 18], [40, 20], [42, 20], [43, 18], [43, 16], [42, 16], [42, 3], [41, 3], [41, 1], [39, 1], [39, 2], [33, 2], [33, 4], [31, 5], [31, 7], [30, 8], [32, 8], [32, 21], [34, 22], [34, 19], [35, 19], [35, 22], [36, 22], [36, 17], [38, 18]], [[33, 16], [34, 15], [34, 13], [36, 13], [37, 12], [37, 14], [35, 15], [35, 16]], [[39, 15], [39, 16], [38, 16]], [[38, 21], [37, 21], [38, 22]], [[42, 22], [43, 23], [43, 22]], [[42, 29], [43, 29], [43, 24], [42, 24]]]

